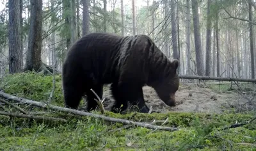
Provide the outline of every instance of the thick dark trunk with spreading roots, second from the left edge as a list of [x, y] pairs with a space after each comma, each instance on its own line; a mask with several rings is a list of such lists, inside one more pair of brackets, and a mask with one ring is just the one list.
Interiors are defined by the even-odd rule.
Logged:
[[42, 65], [42, 0], [31, 0], [31, 19], [28, 37], [28, 54], [24, 70], [38, 71]]

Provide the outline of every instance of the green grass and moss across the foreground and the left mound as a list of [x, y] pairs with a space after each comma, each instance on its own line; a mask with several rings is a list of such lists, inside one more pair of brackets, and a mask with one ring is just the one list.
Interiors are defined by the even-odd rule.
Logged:
[[[0, 88], [19, 97], [45, 101], [52, 89], [52, 77], [34, 72], [13, 74], [1, 80]], [[223, 91], [226, 88], [228, 86], [223, 86]], [[63, 106], [61, 76], [56, 77], [52, 104]], [[5, 109], [10, 110], [7, 106]], [[38, 108], [31, 108], [31, 111], [36, 109], [42, 111]], [[120, 115], [106, 112], [105, 115], [140, 122], [168, 118], [165, 125], [179, 127], [180, 131], [127, 128], [122, 123], [58, 112], [44, 116], [62, 117], [68, 120], [67, 123], [0, 116], [0, 150], [256, 150], [255, 122], [235, 129], [221, 129], [236, 122], [246, 122], [255, 113]]]

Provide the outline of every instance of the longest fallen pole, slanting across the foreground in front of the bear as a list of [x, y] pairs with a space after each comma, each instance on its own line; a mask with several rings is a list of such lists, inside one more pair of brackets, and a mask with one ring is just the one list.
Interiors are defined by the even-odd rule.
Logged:
[[24, 98], [20, 98], [20, 97], [15, 97], [13, 95], [4, 93], [3, 91], [0, 91], [0, 97], [4, 97], [5, 99], [10, 99], [10, 100], [15, 100], [16, 102], [20, 102], [22, 104], [32, 104], [33, 106], [37, 106], [37, 107], [44, 107], [47, 109], [54, 109], [57, 111], [62, 111], [65, 113], [72, 113], [74, 115], [81, 115], [81, 116], [92, 116], [94, 118], [101, 118], [102, 120], [106, 120], [109, 122], [118, 122], [118, 123], [124, 123], [124, 124], [131, 124], [131, 125], [136, 125], [136, 126], [140, 126], [140, 127], [146, 127], [148, 129], [159, 129], [159, 130], [163, 130], [163, 131], [179, 131], [179, 129], [177, 128], [172, 128], [172, 127], [163, 127], [163, 126], [158, 126], [158, 125], [151, 125], [148, 123], [141, 123], [141, 122], [133, 122], [131, 120], [124, 120], [124, 119], [120, 119], [120, 118], [112, 118], [112, 117], [108, 117], [108, 116], [104, 116], [104, 115], [96, 115], [93, 113], [88, 113], [88, 112], [84, 112], [84, 111], [78, 111], [76, 109], [69, 109], [69, 108], [65, 108], [65, 107], [60, 107], [60, 106], [53, 106], [51, 104], [46, 104], [43, 102], [37, 102], [35, 100], [29, 100], [29, 99], [24, 99]]

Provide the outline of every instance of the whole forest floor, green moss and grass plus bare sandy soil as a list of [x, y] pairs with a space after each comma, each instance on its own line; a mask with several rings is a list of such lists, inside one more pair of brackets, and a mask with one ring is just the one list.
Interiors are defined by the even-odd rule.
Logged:
[[[47, 102], [52, 91], [52, 76], [35, 72], [12, 74], [0, 79], [0, 90], [17, 97]], [[147, 129], [16, 104], [30, 115], [63, 118], [67, 122], [0, 114], [0, 150], [256, 150], [255, 90], [251, 83], [182, 81], [176, 94], [177, 106], [168, 107], [154, 89], [145, 86], [145, 101], [155, 113], [129, 111], [115, 114], [108, 111], [113, 98], [109, 87], [105, 86], [104, 107], [107, 111], [103, 114], [93, 111], [113, 118], [175, 127], [179, 131]], [[56, 76], [51, 104], [64, 105], [60, 75]], [[84, 106], [85, 101], [81, 101], [79, 109]], [[0, 113], [3, 112], [21, 114], [0, 102]]]

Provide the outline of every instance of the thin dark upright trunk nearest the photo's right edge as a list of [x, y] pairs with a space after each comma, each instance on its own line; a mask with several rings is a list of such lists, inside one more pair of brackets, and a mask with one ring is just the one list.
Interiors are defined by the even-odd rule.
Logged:
[[[249, 3], [249, 20], [252, 22], [252, 1]], [[252, 70], [252, 79], [255, 78], [255, 68], [254, 68], [254, 50], [253, 50], [253, 29], [252, 23], [249, 22], [249, 31], [250, 31], [250, 52], [251, 52], [251, 70]]]

